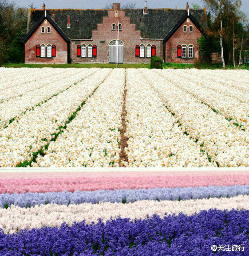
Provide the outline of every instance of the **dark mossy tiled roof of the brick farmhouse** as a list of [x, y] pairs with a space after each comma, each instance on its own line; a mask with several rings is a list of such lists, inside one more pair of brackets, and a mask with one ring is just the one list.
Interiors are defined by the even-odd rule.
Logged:
[[[52, 17], [56, 15], [56, 23], [70, 39], [88, 39], [92, 37], [92, 30], [97, 29], [97, 24], [102, 23], [102, 18], [108, 16], [108, 10], [80, 10], [80, 9], [48, 9]], [[126, 9], [125, 16], [131, 17], [131, 23], [136, 24], [136, 30], [141, 30], [144, 38], [164, 38], [184, 17], [186, 10], [175, 9], [149, 9], [149, 14], [144, 15], [143, 9]], [[203, 9], [190, 11], [201, 25], [204, 15]], [[30, 30], [44, 14], [43, 10], [31, 10]], [[67, 16], [70, 15], [71, 28], [67, 29]]]

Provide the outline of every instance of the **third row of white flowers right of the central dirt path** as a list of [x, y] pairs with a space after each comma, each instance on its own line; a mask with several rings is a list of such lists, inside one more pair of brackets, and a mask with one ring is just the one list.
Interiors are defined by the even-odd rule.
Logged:
[[[169, 72], [166, 70], [163, 72], [159, 71], [158, 73], [164, 75], [172, 83], [176, 83], [176, 85], [180, 84], [181, 90], [186, 91], [196, 99], [201, 100], [201, 102], [208, 104], [208, 106], [216, 111], [219, 111], [219, 113], [224, 115], [224, 117], [228, 119], [232, 118], [231, 122], [238, 123], [242, 126], [242, 129], [248, 126], [249, 95], [236, 91], [235, 98], [235, 95], [233, 95], [231, 92], [233, 91], [233, 88], [231, 87], [228, 87], [226, 90], [228, 95], [224, 94], [223, 92], [220, 93], [220, 88], [223, 87], [223, 85], [220, 83], [215, 84], [216, 91], [214, 91], [210, 89], [210, 84], [205, 82], [203, 79], [199, 79], [198, 75], [195, 75], [195, 72], [193, 72], [193, 77], [195, 77], [194, 82], [191, 78], [189, 79], [188, 77], [186, 78], [184, 75], [181, 75], [180, 72]], [[226, 102], [226, 104], [224, 104], [224, 102]]]

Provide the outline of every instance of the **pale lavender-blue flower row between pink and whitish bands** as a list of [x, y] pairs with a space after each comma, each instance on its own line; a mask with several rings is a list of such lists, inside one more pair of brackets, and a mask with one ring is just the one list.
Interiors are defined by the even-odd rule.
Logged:
[[210, 197], [234, 197], [249, 195], [249, 185], [210, 186], [188, 188], [152, 188], [152, 189], [116, 189], [113, 191], [75, 191], [75, 192], [46, 192], [46, 193], [14, 193], [0, 194], [0, 208], [31, 207], [41, 204], [81, 204], [98, 203], [133, 203], [140, 200], [188, 200], [208, 199]]

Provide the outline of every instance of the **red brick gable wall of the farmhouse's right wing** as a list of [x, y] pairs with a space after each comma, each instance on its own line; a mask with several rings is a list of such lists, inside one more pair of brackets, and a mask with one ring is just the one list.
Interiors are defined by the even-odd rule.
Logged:
[[[189, 27], [193, 26], [193, 32], [189, 33], [189, 28], [187, 28], [187, 33], [183, 32], [183, 26]], [[179, 29], [173, 34], [171, 38], [165, 43], [165, 62], [171, 63], [194, 63], [199, 59], [199, 46], [197, 44], [197, 38], [201, 37], [200, 30], [196, 28], [191, 20], [187, 22], [185, 20]], [[177, 46], [178, 45], [193, 45], [193, 59], [188, 58], [178, 58], [177, 57]]]

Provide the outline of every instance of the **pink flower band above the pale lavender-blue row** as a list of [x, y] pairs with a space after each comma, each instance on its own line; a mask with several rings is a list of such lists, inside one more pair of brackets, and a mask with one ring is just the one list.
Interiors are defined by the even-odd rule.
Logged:
[[0, 193], [249, 185], [249, 172], [0, 173]]

